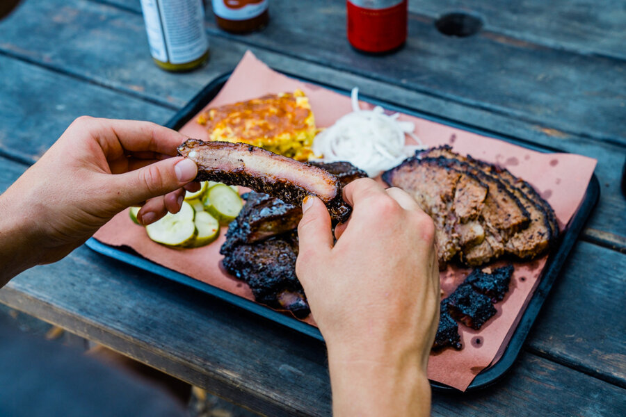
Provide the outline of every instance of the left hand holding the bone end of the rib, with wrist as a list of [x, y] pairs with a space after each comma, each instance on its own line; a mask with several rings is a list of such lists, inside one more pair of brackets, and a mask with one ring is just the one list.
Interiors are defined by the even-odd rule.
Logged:
[[[144, 224], [179, 211], [182, 187], [197, 187], [187, 185], [198, 172], [195, 163], [170, 158], [184, 140], [150, 122], [75, 120], [0, 195], [0, 212], [10, 220], [0, 219], [0, 247], [10, 239], [13, 252], [22, 249], [15, 272], [58, 261], [128, 206], [143, 204], [138, 219]], [[28, 259], [23, 252], [31, 252]]]

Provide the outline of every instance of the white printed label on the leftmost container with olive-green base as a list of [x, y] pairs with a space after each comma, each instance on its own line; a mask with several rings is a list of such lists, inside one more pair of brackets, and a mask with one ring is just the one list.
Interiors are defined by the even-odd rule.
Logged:
[[141, 0], [150, 54], [163, 63], [185, 64], [209, 49], [200, 0]]

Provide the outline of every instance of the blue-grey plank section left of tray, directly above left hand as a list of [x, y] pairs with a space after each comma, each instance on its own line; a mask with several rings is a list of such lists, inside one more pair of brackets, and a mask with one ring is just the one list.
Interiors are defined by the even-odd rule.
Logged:
[[0, 56], [0, 153], [33, 162], [80, 115], [163, 122], [174, 112]]

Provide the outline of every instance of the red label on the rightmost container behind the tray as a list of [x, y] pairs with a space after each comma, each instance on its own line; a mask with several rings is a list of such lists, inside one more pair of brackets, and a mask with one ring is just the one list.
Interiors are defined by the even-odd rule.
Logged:
[[[386, 8], [367, 8], [355, 3], [364, 2], [346, 0], [348, 41], [353, 47], [376, 53], [390, 51], [403, 44], [407, 31], [407, 0]], [[384, 6], [384, 2], [381, 3]]]

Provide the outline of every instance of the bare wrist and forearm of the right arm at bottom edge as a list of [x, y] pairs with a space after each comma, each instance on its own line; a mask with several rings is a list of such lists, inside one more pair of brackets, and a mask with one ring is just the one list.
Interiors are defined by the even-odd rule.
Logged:
[[329, 347], [333, 415], [429, 416], [431, 387], [420, 357], [410, 351], [362, 355]]

